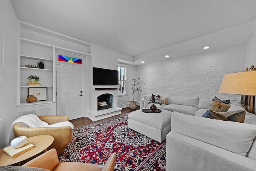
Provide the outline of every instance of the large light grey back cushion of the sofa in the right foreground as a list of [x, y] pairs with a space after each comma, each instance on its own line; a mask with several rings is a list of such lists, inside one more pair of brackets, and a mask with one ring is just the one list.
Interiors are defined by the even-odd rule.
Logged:
[[246, 156], [256, 136], [256, 125], [194, 117], [174, 111], [171, 131]]

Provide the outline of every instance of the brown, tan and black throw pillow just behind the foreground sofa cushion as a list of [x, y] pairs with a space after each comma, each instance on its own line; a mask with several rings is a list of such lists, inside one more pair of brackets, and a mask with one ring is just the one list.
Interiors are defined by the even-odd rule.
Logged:
[[226, 112], [215, 112], [212, 110], [207, 110], [202, 117], [208, 117], [210, 119], [219, 119], [223, 121], [234, 121], [244, 123], [245, 111], [226, 111]]

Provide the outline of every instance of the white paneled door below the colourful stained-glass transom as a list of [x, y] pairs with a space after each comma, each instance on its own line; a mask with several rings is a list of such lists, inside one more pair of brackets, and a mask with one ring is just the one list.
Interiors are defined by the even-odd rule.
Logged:
[[83, 117], [83, 68], [57, 65], [57, 115]]

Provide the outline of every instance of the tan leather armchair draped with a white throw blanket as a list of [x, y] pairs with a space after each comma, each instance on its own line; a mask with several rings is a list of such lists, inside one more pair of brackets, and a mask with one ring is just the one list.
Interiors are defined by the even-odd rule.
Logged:
[[[69, 121], [69, 116], [38, 116], [42, 121], [48, 124], [54, 124], [62, 121]], [[36, 135], [51, 135], [54, 137], [52, 145], [48, 149], [55, 148], [58, 155], [62, 153], [68, 143], [72, 141], [71, 127], [38, 127], [30, 128], [25, 123], [15, 123], [13, 126], [14, 136], [33, 137]]]

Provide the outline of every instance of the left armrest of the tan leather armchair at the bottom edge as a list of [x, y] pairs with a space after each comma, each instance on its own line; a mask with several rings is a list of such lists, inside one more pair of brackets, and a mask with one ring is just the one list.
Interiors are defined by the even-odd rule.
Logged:
[[56, 149], [50, 149], [46, 153], [39, 155], [38, 157], [28, 161], [22, 165], [22, 167], [37, 167], [41, 169], [48, 169], [50, 171], [54, 170], [59, 164], [58, 155]]

